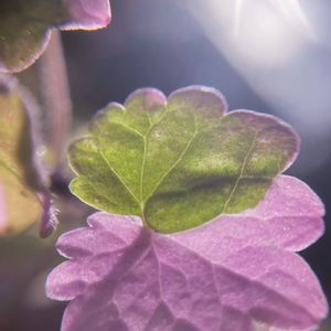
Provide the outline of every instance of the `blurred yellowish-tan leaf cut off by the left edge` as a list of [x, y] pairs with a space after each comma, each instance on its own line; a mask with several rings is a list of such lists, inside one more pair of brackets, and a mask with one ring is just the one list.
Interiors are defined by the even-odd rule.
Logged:
[[17, 234], [42, 216], [31, 124], [14, 82], [0, 82], [0, 235]]

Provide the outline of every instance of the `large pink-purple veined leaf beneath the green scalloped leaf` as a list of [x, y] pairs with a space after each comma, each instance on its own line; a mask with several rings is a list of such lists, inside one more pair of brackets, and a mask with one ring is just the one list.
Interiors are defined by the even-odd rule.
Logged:
[[320, 285], [293, 252], [323, 233], [323, 206], [279, 175], [254, 210], [162, 235], [138, 217], [96, 213], [61, 236], [70, 258], [47, 278], [72, 300], [63, 331], [313, 330], [327, 314]]

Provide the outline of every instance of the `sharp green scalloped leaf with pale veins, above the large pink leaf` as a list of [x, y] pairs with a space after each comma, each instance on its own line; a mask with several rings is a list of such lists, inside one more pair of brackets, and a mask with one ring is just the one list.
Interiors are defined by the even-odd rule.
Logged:
[[100, 111], [89, 136], [72, 145], [71, 190], [96, 209], [180, 232], [256, 206], [298, 145], [276, 117], [226, 114], [213, 88], [182, 88], [168, 102], [159, 90], [139, 89]]

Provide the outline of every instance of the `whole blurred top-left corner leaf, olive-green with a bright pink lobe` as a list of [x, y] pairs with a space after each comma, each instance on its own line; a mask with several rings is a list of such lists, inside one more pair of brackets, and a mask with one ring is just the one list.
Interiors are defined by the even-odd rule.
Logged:
[[92, 30], [109, 21], [108, 0], [1, 0], [0, 71], [30, 66], [44, 51], [53, 26]]

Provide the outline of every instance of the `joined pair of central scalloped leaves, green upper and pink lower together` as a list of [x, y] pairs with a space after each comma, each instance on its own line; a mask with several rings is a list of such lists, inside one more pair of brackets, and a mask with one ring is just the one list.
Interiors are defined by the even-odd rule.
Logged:
[[323, 205], [281, 175], [299, 139], [226, 109], [213, 88], [139, 89], [72, 145], [72, 192], [113, 214], [57, 242], [68, 260], [46, 291], [71, 300], [63, 331], [303, 331], [327, 316], [296, 254], [323, 233]]

